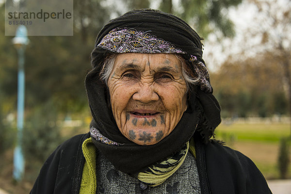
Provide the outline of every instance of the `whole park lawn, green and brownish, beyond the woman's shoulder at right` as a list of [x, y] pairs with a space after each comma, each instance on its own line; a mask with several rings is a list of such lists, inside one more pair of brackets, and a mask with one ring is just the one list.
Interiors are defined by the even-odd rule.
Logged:
[[[225, 141], [226, 146], [249, 157], [265, 178], [279, 178], [279, 141], [281, 137], [290, 136], [290, 124], [221, 124], [215, 133], [216, 139]], [[288, 178], [291, 178], [291, 166], [288, 169]]]

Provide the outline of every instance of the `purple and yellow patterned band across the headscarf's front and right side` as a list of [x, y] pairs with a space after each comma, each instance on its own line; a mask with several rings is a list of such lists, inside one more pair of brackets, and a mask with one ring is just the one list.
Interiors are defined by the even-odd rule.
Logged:
[[[148, 31], [150, 32], [150, 31]], [[136, 31], [135, 29], [116, 28], [105, 35], [97, 47], [110, 50], [116, 53], [165, 53], [165, 54], [187, 54], [182, 49], [176, 48], [170, 42], [150, 35], [147, 32]], [[209, 82], [209, 72], [206, 65], [197, 60], [197, 57], [189, 54], [188, 61], [194, 63], [194, 71], [199, 78], [200, 89], [211, 93], [212, 87]]]

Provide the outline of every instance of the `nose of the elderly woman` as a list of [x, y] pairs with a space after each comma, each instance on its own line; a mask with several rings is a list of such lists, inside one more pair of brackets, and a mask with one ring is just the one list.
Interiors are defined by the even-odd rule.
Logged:
[[152, 84], [140, 84], [137, 92], [132, 96], [133, 100], [138, 100], [143, 103], [149, 103], [151, 101], [158, 101], [159, 95], [155, 92]]

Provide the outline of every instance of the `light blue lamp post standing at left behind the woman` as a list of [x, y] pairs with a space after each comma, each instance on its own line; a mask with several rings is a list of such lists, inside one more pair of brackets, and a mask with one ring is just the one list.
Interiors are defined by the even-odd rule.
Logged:
[[18, 53], [18, 83], [17, 83], [17, 143], [14, 150], [14, 169], [13, 177], [16, 181], [22, 179], [24, 174], [24, 158], [21, 148], [22, 129], [24, 122], [24, 50], [28, 45], [27, 30], [25, 26], [19, 26], [16, 30], [16, 36], [12, 39]]

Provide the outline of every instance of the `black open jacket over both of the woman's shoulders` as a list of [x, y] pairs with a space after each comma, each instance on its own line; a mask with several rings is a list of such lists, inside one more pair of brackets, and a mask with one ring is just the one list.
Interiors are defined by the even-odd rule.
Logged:
[[[49, 156], [31, 194], [79, 194], [85, 159], [82, 143], [89, 133], [72, 137]], [[272, 194], [256, 165], [242, 153], [216, 142], [195, 139], [201, 194]]]

